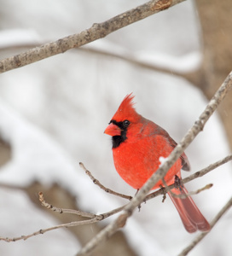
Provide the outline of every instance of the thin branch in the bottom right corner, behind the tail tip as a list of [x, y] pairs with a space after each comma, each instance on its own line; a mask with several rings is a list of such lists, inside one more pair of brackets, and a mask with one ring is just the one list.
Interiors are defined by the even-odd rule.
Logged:
[[[229, 210], [229, 208], [232, 207], [232, 197], [229, 199], [229, 201], [225, 204], [225, 206], [221, 209], [220, 212], [217, 213], [216, 217], [213, 218], [211, 222], [211, 228], [214, 227], [215, 224], [217, 224], [218, 220], [223, 216], [225, 212]], [[192, 241], [188, 247], [184, 248], [181, 253], [178, 254], [178, 256], [185, 256], [187, 255], [209, 232], [203, 232], [199, 236], [197, 236], [194, 241]]]

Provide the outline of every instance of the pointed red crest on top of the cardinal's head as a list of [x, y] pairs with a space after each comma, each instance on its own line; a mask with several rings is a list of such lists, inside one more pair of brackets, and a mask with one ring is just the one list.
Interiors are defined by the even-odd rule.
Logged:
[[113, 119], [116, 121], [123, 121], [125, 119], [130, 119], [131, 121], [136, 121], [140, 115], [136, 113], [136, 109], [134, 108], [133, 98], [135, 96], [131, 94], [125, 96], [124, 100], [121, 102], [118, 110], [113, 115]]

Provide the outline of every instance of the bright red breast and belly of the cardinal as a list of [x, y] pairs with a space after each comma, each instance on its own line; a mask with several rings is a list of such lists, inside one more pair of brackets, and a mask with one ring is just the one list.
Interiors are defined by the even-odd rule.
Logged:
[[[165, 137], [161, 136], [128, 139], [118, 148], [113, 148], [114, 166], [126, 183], [140, 189], [159, 168], [159, 157], [167, 157], [172, 149]], [[179, 160], [167, 173], [165, 180], [169, 182], [169, 177], [172, 179], [180, 169]], [[159, 184], [154, 189], [159, 188]]]

